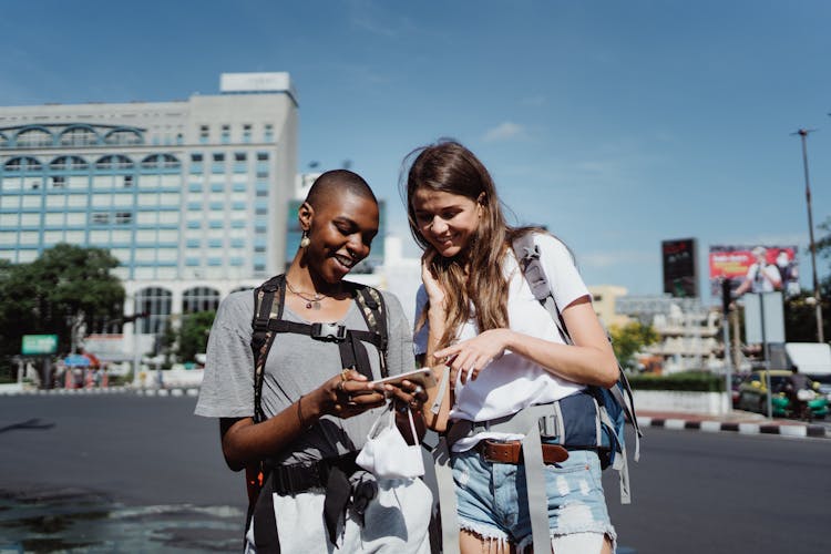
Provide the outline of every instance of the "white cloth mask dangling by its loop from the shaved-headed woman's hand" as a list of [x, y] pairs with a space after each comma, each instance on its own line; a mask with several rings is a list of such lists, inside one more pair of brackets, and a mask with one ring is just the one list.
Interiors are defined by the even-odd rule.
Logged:
[[[416, 423], [412, 410], [407, 409], [410, 417], [410, 430], [416, 434]], [[372, 423], [367, 435], [367, 443], [358, 453], [355, 462], [372, 473], [377, 479], [413, 479], [424, 474], [424, 462], [421, 458], [421, 447], [410, 445], [396, 425], [396, 410], [390, 402], [387, 411]]]

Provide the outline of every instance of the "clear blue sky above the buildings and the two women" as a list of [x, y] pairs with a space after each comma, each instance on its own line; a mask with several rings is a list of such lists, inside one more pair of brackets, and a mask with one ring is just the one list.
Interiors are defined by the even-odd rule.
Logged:
[[695, 237], [705, 279], [710, 245], [796, 244], [810, 287], [790, 133], [819, 130], [823, 222], [830, 23], [824, 0], [8, 1], [0, 104], [185, 99], [222, 72], [288, 71], [298, 167], [351, 161], [407, 245], [401, 160], [453, 136], [589, 285], [660, 293], [660, 242]]

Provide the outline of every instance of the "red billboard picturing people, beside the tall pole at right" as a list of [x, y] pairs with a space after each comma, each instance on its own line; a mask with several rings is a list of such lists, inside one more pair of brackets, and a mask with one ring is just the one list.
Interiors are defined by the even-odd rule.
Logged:
[[730, 280], [735, 298], [745, 293], [798, 295], [796, 246], [710, 246], [710, 294], [721, 295], [721, 279]]

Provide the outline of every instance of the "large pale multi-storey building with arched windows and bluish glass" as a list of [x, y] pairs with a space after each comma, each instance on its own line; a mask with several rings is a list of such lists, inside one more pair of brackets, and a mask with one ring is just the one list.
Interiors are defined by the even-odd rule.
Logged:
[[216, 307], [284, 268], [297, 112], [288, 73], [225, 73], [184, 101], [0, 107], [0, 258], [109, 249], [141, 335]]

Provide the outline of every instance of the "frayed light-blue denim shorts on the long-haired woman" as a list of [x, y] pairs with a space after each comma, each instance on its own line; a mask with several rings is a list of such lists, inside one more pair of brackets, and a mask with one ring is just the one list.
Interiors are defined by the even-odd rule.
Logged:
[[[454, 452], [451, 463], [461, 529], [484, 538], [507, 541], [520, 550], [526, 546], [531, 520], [525, 466], [488, 462], [475, 449]], [[594, 533], [608, 535], [614, 545], [615, 527], [606, 509], [597, 453], [571, 451], [568, 460], [545, 465], [544, 473], [552, 540]]]

